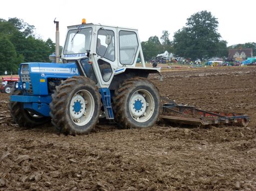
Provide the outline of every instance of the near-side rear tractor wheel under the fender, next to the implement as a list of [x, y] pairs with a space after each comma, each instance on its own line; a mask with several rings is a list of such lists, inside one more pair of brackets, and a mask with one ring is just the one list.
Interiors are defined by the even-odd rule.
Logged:
[[120, 85], [113, 98], [115, 121], [119, 128], [148, 128], [161, 112], [158, 89], [142, 77], [134, 77]]

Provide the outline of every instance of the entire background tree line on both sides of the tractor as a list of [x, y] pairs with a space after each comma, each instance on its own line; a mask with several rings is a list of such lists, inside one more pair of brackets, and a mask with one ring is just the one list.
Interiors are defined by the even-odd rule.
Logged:
[[[237, 44], [227, 47], [218, 33], [218, 19], [211, 12], [200, 11], [187, 18], [186, 26], [176, 31], [173, 40], [170, 33], [163, 31], [160, 39], [150, 37], [142, 42], [146, 61], [168, 51], [177, 57], [207, 59], [212, 56], [227, 57], [229, 48], [252, 48], [256, 55], [256, 43]], [[5, 71], [17, 73], [19, 63], [49, 62], [55, 52], [55, 43], [36, 37], [35, 26], [18, 18], [0, 18], [0, 75]]]

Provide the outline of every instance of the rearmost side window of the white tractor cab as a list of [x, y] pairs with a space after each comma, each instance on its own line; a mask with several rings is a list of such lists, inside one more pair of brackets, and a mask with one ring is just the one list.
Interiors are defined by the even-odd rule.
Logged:
[[119, 32], [120, 63], [132, 65], [138, 50], [138, 38], [135, 32]]

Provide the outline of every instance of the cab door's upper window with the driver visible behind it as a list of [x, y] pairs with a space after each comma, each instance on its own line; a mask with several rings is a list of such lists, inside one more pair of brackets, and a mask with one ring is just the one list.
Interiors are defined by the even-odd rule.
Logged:
[[103, 58], [114, 61], [114, 32], [100, 29], [98, 31], [96, 53]]

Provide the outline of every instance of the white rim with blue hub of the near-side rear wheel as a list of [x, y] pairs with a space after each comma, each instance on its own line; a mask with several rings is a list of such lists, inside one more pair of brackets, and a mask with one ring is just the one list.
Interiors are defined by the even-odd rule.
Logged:
[[130, 98], [130, 114], [137, 122], [148, 121], [154, 112], [154, 99], [149, 91], [140, 89], [132, 94]]

